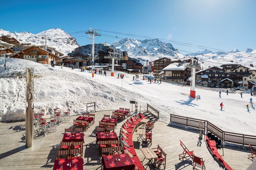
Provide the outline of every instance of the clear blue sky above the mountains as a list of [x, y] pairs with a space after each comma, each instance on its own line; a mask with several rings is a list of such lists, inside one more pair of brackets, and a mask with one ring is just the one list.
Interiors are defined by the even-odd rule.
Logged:
[[[188, 52], [202, 50], [195, 45], [243, 51], [256, 49], [255, 7], [253, 0], [5, 1], [0, 29], [36, 34], [51, 28], [67, 33], [94, 28], [193, 44], [171, 42]], [[144, 39], [103, 31], [95, 43]], [[80, 45], [91, 43], [84, 33], [71, 35]]]

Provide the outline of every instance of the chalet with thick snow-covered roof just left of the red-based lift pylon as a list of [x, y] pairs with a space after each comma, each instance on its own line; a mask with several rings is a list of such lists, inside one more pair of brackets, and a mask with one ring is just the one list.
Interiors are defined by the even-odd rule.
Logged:
[[189, 63], [172, 63], [162, 69], [159, 77], [165, 77], [166, 80], [174, 82], [182, 82], [183, 84], [190, 84], [191, 69], [186, 67]]

